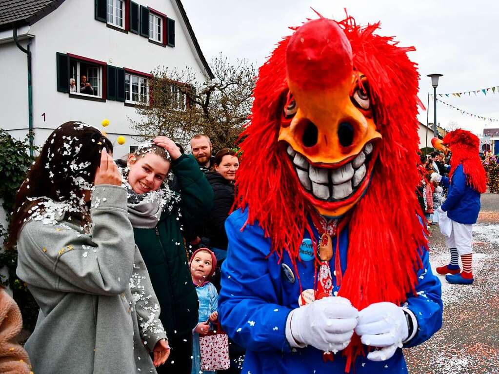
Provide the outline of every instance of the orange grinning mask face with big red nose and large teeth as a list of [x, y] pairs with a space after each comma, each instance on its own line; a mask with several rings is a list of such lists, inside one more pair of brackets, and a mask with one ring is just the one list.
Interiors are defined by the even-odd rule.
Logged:
[[354, 68], [345, 33], [327, 18], [291, 36], [286, 72], [278, 140], [305, 198], [322, 215], [342, 216], [369, 187], [381, 139], [369, 78]]

